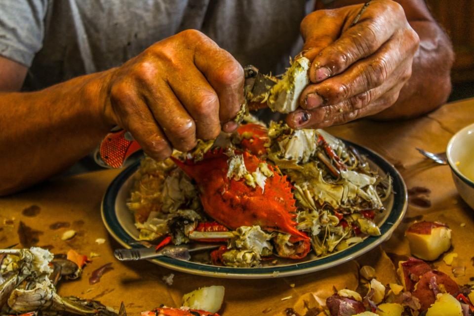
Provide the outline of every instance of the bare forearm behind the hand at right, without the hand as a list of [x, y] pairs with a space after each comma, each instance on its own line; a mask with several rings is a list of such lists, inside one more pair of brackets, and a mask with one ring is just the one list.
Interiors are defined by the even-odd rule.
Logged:
[[374, 118], [422, 115], [446, 102], [451, 92], [450, 71], [454, 53], [448, 37], [434, 21], [413, 21], [410, 25], [420, 37], [411, 78], [401, 89], [395, 104]]

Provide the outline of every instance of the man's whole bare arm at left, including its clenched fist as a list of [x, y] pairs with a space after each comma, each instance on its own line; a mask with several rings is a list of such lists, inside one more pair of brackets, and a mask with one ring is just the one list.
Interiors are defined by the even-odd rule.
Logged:
[[190, 150], [197, 139], [235, 129], [243, 100], [240, 64], [194, 30], [121, 67], [37, 92], [8, 92], [21, 87], [26, 68], [3, 58], [0, 69], [0, 195], [72, 165], [114, 125], [155, 159]]

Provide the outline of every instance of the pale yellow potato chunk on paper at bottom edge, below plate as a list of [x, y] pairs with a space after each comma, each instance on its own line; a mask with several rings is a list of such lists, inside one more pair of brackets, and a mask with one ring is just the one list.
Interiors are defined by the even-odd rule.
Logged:
[[193, 310], [217, 313], [224, 301], [224, 286], [201, 287], [183, 296], [183, 306]]

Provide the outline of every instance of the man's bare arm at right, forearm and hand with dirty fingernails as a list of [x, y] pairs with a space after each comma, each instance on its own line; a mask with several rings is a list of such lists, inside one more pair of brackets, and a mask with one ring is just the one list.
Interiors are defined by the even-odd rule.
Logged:
[[424, 2], [372, 0], [353, 25], [363, 2], [336, 0], [303, 20], [312, 84], [288, 115], [291, 126], [410, 118], [446, 101], [452, 48]]

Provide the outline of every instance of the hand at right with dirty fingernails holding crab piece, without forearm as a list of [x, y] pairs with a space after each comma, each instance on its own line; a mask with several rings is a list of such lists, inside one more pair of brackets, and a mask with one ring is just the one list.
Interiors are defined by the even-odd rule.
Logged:
[[309, 14], [301, 24], [302, 54], [311, 61], [301, 109], [289, 114], [293, 128], [317, 128], [373, 115], [395, 103], [411, 76], [419, 38], [403, 8], [373, 0]]

